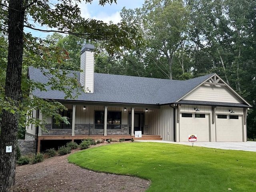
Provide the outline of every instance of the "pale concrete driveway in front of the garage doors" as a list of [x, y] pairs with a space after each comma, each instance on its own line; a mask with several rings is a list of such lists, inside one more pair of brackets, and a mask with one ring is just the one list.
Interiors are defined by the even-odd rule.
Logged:
[[[190, 145], [191, 142], [172, 142], [164, 140], [138, 140], [140, 142], [160, 142], [160, 143], [172, 143], [181, 145]], [[228, 149], [228, 150], [242, 150], [242, 151], [253, 151], [256, 152], [256, 142], [194, 142], [194, 146], [208, 147], [215, 149]]]

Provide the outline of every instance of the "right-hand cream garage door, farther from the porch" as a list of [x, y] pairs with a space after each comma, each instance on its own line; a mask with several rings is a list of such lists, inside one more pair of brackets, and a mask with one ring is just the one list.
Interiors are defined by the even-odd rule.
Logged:
[[216, 141], [242, 142], [242, 130], [242, 116], [220, 114], [216, 116]]

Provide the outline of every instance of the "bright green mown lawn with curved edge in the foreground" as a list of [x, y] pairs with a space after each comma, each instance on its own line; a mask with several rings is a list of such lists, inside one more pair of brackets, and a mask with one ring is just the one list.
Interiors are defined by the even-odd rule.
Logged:
[[89, 148], [68, 160], [97, 172], [146, 178], [152, 182], [148, 192], [256, 191], [256, 152], [131, 142]]

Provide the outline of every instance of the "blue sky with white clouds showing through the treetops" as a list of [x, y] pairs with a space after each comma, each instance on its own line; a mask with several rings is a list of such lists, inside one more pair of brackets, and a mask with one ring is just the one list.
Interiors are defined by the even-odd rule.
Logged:
[[[98, 0], [93, 0], [92, 4], [86, 4], [82, 1], [80, 4], [81, 14], [84, 18], [92, 18], [96, 20], [102, 20], [108, 23], [110, 20], [114, 23], [118, 23], [121, 20], [120, 11], [123, 7], [127, 9], [134, 9], [142, 7], [144, 0], [117, 0], [117, 4], [106, 4], [105, 6], [100, 6]], [[36, 25], [36, 28], [47, 29], [46, 26], [40, 27]], [[50, 33], [37, 32], [24, 28], [25, 32], [31, 32], [33, 36], [44, 38]]]

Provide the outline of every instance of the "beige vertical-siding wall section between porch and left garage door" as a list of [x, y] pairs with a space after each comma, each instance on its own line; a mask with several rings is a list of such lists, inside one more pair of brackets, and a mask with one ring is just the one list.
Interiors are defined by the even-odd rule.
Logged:
[[160, 132], [163, 140], [173, 141], [173, 108], [169, 105], [161, 106]]

